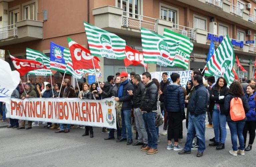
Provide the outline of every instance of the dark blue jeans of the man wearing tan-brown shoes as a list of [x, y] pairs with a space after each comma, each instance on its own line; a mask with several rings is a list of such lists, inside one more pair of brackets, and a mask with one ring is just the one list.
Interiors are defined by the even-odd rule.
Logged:
[[145, 129], [148, 134], [148, 147], [157, 149], [158, 134], [156, 132], [156, 112], [145, 112], [143, 115]]

